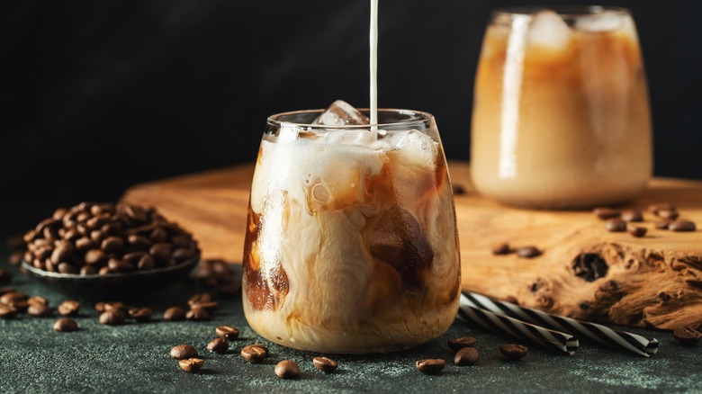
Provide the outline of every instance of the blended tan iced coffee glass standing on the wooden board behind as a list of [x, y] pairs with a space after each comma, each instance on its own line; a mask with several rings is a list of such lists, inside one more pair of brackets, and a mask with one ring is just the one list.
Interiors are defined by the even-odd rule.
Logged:
[[652, 171], [635, 24], [623, 9], [562, 11], [493, 13], [475, 81], [473, 182], [527, 207], [632, 199]]

